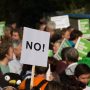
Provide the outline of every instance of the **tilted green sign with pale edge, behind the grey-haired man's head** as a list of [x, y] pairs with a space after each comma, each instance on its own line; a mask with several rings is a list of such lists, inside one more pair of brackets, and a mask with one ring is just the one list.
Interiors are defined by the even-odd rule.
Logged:
[[54, 57], [57, 59], [57, 60], [61, 60], [61, 51], [63, 48], [65, 47], [71, 47], [70, 43], [68, 42], [68, 40], [64, 39], [57, 51], [57, 53], [54, 55]]

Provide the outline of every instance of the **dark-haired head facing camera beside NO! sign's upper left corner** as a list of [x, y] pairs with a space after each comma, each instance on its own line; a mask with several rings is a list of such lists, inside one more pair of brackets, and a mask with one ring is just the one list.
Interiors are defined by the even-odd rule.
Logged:
[[20, 29], [20, 28], [18, 28], [18, 29], [14, 29], [13, 31], [12, 31], [12, 33], [11, 33], [11, 35], [12, 35], [12, 40], [21, 40], [22, 39], [22, 33], [23, 33], [23, 31]]

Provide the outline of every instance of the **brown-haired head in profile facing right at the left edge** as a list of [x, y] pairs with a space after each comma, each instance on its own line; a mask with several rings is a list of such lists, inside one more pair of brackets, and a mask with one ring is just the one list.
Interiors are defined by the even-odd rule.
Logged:
[[3, 61], [5, 58], [8, 60], [13, 58], [13, 48], [10, 41], [3, 41], [0, 44], [0, 61]]

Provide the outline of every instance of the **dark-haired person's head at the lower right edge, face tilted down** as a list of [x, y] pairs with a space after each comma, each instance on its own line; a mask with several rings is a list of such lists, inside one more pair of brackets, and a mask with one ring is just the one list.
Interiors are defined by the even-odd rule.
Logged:
[[90, 80], [90, 68], [86, 64], [78, 64], [75, 68], [74, 75], [78, 81], [87, 84]]

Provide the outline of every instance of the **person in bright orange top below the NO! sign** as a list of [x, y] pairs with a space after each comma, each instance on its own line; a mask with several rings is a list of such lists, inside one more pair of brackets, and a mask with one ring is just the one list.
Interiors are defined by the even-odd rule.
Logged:
[[[34, 77], [34, 85], [33, 87], [36, 87], [40, 82], [42, 82], [43, 80], [46, 80], [45, 79], [45, 73], [46, 73], [46, 70], [47, 68], [46, 67], [40, 67], [40, 66], [36, 66], [35, 68], [35, 77]], [[29, 82], [30, 82], [30, 79], [29, 79]], [[44, 90], [46, 85], [47, 85], [48, 82], [45, 82], [41, 87], [40, 89], [41, 90]], [[26, 83], [26, 80], [23, 80], [20, 87], [19, 87], [19, 90], [25, 90], [26, 88], [26, 85], [28, 83]], [[28, 88], [30, 88], [30, 84], [28, 86]]]

